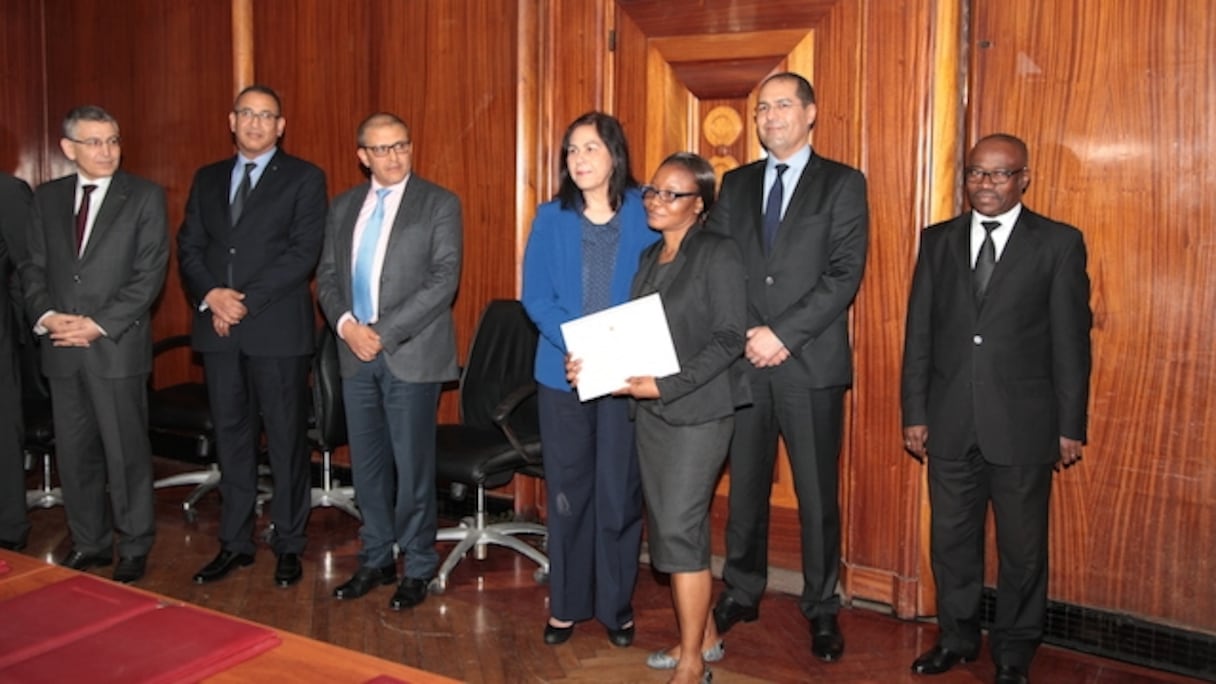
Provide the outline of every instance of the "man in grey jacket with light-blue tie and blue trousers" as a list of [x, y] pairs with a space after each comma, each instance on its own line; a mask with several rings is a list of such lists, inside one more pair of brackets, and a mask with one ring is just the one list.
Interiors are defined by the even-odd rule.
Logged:
[[[412, 173], [410, 128], [394, 114], [359, 127], [371, 183], [330, 209], [317, 298], [338, 346], [350, 461], [364, 548], [359, 570], [334, 589], [356, 599], [396, 581], [393, 610], [421, 604], [435, 574], [435, 409], [457, 377], [451, 305], [460, 284], [461, 207]], [[395, 476], [394, 476], [395, 471]]]

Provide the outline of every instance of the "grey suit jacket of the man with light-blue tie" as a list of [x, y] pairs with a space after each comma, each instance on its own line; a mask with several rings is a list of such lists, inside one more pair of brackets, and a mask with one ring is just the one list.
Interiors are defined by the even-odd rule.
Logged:
[[[370, 190], [370, 183], [355, 186], [330, 208], [316, 281], [321, 310], [332, 326], [351, 310], [355, 222]], [[445, 382], [460, 374], [451, 307], [460, 285], [461, 234], [456, 195], [411, 174], [388, 237], [378, 320], [372, 325], [389, 370], [407, 382]], [[338, 360], [343, 377], [361, 363], [345, 344], [338, 344]]]

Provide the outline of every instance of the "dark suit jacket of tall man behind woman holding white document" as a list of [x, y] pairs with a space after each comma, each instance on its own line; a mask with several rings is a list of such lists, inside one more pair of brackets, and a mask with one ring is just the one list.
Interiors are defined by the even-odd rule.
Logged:
[[[790, 358], [776, 372], [804, 387], [852, 383], [849, 304], [866, 265], [866, 178], [811, 153], [771, 254], [762, 235], [765, 162], [727, 173], [709, 226], [734, 237], [747, 268], [748, 327], [767, 325]], [[741, 364], [748, 364], [741, 359]]]

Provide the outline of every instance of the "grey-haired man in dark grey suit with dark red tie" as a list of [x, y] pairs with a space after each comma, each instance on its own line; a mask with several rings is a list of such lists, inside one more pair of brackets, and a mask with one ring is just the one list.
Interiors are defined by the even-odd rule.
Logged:
[[34, 332], [49, 336], [43, 374], [72, 534], [61, 562], [109, 565], [117, 529], [114, 579], [135, 582], [156, 536], [147, 376], [169, 232], [164, 190], [119, 170], [120, 144], [101, 107], [68, 112], [60, 146], [78, 173], [34, 192], [21, 271]]

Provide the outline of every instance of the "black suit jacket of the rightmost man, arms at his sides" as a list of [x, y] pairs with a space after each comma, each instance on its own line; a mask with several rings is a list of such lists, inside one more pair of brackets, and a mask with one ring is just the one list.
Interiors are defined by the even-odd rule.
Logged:
[[970, 220], [967, 213], [922, 234], [903, 349], [903, 425], [929, 427], [933, 458], [963, 458], [974, 439], [995, 464], [1055, 462], [1060, 436], [1086, 438], [1085, 241], [1023, 207], [975, 302]]

